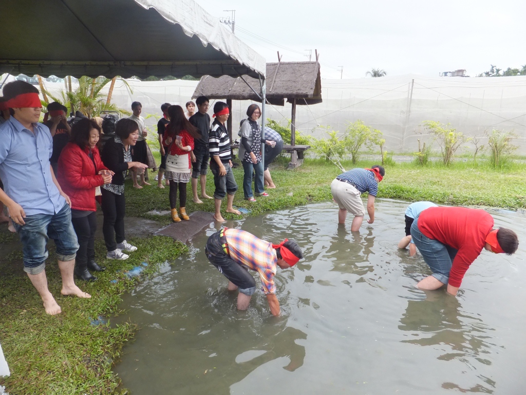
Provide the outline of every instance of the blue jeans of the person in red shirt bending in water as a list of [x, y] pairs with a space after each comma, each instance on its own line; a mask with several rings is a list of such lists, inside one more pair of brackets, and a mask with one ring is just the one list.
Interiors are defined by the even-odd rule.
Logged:
[[432, 276], [441, 283], [447, 284], [451, 265], [458, 250], [438, 240], [428, 238], [418, 229], [418, 216], [411, 225], [411, 237], [414, 244], [422, 254], [424, 261], [433, 272]]

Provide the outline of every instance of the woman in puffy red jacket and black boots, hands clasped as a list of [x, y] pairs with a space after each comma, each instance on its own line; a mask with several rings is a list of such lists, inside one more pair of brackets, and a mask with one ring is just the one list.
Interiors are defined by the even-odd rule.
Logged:
[[105, 269], [95, 262], [95, 196], [100, 194], [101, 185], [112, 182], [113, 172], [100, 160], [97, 149], [100, 127], [95, 121], [80, 120], [71, 134], [71, 141], [58, 159], [57, 180], [72, 204], [72, 223], [79, 244], [75, 275], [80, 280], [95, 281], [97, 278], [88, 268], [97, 272]]

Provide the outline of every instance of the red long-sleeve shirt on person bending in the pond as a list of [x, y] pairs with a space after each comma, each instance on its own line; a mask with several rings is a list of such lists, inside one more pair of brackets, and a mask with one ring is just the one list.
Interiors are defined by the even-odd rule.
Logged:
[[420, 232], [458, 250], [449, 273], [453, 287], [460, 287], [464, 274], [484, 248], [493, 224], [493, 217], [484, 210], [464, 207], [430, 207], [418, 217]]

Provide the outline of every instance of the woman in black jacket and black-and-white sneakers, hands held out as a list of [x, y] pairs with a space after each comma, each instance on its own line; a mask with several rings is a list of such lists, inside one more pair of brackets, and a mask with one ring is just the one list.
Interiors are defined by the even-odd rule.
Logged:
[[100, 189], [102, 193], [102, 212], [104, 214], [103, 234], [108, 250], [108, 259], [128, 259], [122, 251], [135, 251], [137, 247], [124, 239], [124, 177], [128, 169], [146, 169], [148, 166], [131, 161], [130, 145], [135, 145], [139, 137], [139, 129], [135, 121], [124, 118], [117, 122], [115, 137], [104, 145], [102, 161], [115, 173], [111, 184], [105, 184]]

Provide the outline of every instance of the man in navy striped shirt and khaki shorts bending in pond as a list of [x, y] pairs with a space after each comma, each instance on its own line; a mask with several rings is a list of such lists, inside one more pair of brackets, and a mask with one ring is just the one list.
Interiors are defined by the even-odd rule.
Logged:
[[371, 169], [352, 169], [340, 174], [332, 181], [330, 190], [332, 198], [340, 208], [338, 213], [338, 223], [345, 224], [347, 211], [355, 216], [352, 220], [351, 231], [360, 230], [360, 226], [365, 215], [363, 202], [360, 195], [368, 192], [367, 213], [369, 219], [367, 223], [375, 222], [375, 197], [378, 193], [378, 183], [382, 181], [386, 171], [382, 166], [374, 165]]

